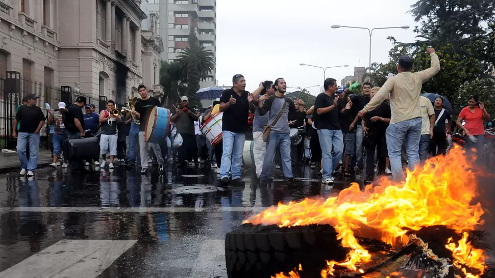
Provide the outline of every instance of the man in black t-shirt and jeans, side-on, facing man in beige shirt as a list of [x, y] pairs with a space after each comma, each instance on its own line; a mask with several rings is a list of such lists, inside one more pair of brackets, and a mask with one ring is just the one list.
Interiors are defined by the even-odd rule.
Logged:
[[321, 145], [323, 183], [333, 184], [332, 173], [339, 164], [344, 148], [342, 130], [338, 122], [337, 80], [327, 78], [323, 86], [325, 92], [320, 93], [314, 102], [315, 123]]

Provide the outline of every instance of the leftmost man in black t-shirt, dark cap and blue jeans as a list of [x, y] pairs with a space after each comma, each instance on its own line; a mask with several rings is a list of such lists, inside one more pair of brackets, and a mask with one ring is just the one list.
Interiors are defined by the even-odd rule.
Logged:
[[[20, 160], [20, 174], [34, 176], [33, 171], [38, 165], [39, 153], [39, 131], [45, 123], [45, 116], [41, 108], [36, 106], [38, 96], [28, 94], [27, 104], [21, 105], [15, 114], [12, 135], [17, 138], [17, 155]], [[19, 130], [16, 131], [17, 123], [20, 122]], [[29, 160], [26, 156], [26, 149], [29, 144]]]

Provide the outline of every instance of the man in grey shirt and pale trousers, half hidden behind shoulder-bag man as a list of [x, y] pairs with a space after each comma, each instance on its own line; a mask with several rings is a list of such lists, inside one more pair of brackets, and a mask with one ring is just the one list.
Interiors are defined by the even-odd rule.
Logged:
[[254, 120], [253, 120], [253, 156], [256, 165], [256, 177], [258, 179], [263, 169], [263, 160], [265, 158], [266, 143], [263, 142], [263, 126], [268, 124], [268, 114], [260, 116], [258, 98], [259, 96], [273, 95], [275, 88], [272, 81], [264, 81], [260, 83], [258, 89], [253, 92]]

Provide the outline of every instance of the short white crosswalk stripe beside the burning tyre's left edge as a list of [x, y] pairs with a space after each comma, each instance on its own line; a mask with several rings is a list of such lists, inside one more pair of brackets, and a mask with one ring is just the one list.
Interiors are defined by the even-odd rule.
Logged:
[[191, 268], [189, 277], [224, 276], [226, 272], [225, 240], [206, 240]]

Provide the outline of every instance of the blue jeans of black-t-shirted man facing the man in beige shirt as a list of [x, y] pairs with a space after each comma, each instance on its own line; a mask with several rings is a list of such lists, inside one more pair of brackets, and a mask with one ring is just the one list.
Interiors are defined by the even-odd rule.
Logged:
[[323, 179], [330, 179], [332, 178], [332, 172], [339, 164], [344, 149], [342, 130], [318, 129], [318, 137], [319, 144], [321, 145]]

